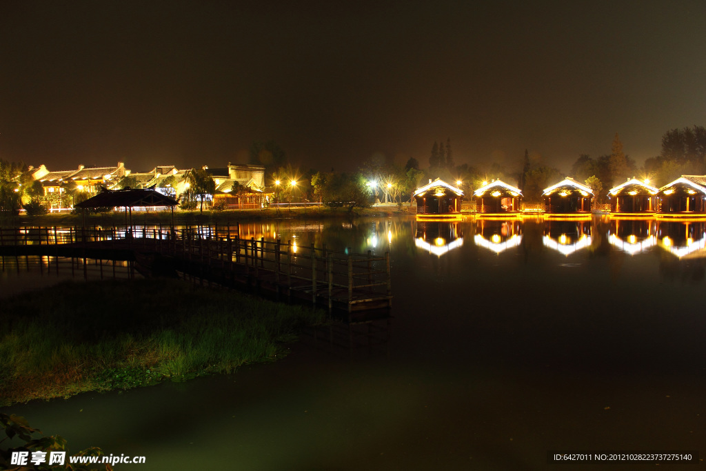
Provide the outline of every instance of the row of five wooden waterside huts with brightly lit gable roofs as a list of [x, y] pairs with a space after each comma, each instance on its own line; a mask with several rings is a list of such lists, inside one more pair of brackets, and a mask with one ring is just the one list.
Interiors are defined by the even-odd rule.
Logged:
[[[461, 214], [462, 189], [441, 179], [417, 189], [417, 215], [456, 217]], [[590, 215], [594, 193], [588, 186], [567, 177], [544, 189], [541, 212], [556, 215]], [[473, 193], [476, 213], [481, 215], [521, 214], [522, 190], [497, 179]], [[662, 188], [647, 181], [628, 179], [608, 193], [611, 213], [623, 215], [660, 214], [706, 216], [706, 175], [682, 175]], [[532, 208], [537, 212], [537, 208]]]

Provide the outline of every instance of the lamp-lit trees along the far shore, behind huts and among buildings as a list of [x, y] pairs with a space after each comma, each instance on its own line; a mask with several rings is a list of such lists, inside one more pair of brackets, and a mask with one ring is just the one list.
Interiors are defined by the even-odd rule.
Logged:
[[[373, 201], [388, 201], [402, 204], [412, 203], [412, 194], [427, 179], [441, 178], [450, 184], [457, 184], [467, 196], [493, 179], [503, 179], [508, 183], [517, 181], [525, 201], [542, 201], [542, 192], [551, 184], [563, 178], [562, 172], [542, 162], [542, 158], [525, 150], [517, 165], [508, 168], [499, 162], [485, 162], [479, 165], [455, 165], [451, 140], [435, 141], [429, 154], [429, 167], [422, 168], [419, 160], [410, 157], [402, 165], [390, 162], [385, 157], [375, 155], [354, 172], [321, 172], [306, 169], [289, 163], [287, 154], [274, 141], [256, 141], [251, 145], [249, 163], [265, 167], [265, 191], [273, 193], [275, 202], [311, 201], [332, 208], [354, 208], [369, 206]], [[638, 168], [635, 160], [623, 150], [618, 133], [611, 144], [611, 153], [591, 157], [581, 154], [573, 162], [570, 177], [584, 182], [594, 190], [596, 201], [606, 201], [608, 189], [626, 181], [630, 177], [649, 178], [654, 186], [669, 183], [682, 174], [706, 174], [706, 128], [704, 126], [671, 129], [662, 136], [662, 150], [659, 155], [645, 160]], [[169, 187], [177, 186], [177, 177], [171, 177]], [[184, 179], [189, 187], [180, 195], [181, 204], [186, 208], [197, 205], [203, 210], [205, 195], [215, 191], [213, 179], [203, 169], [191, 169]], [[274, 184], [279, 181], [280, 184]], [[66, 181], [64, 198], [76, 204], [88, 197], [76, 191], [76, 183]], [[117, 188], [135, 188], [137, 180], [127, 176]], [[247, 189], [234, 184], [232, 194], [246, 193]], [[22, 163], [0, 160], [0, 212], [16, 213], [22, 207], [35, 213], [41, 206], [59, 198], [57, 193], [44, 196], [42, 184], [33, 181], [30, 168]], [[55, 202], [54, 202], [55, 203]]]

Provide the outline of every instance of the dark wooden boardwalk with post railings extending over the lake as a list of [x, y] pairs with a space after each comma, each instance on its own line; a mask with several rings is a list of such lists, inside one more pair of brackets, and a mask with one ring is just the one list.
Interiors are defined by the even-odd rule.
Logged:
[[325, 244], [316, 248], [292, 240], [241, 239], [227, 226], [0, 228], [0, 246], [19, 251], [25, 246], [32, 254], [42, 254], [44, 246], [44, 255], [51, 256], [61, 246], [153, 252], [173, 257], [181, 271], [198, 270], [202, 279], [206, 275], [251, 285], [277, 297], [311, 299], [348, 312], [389, 307], [392, 302], [388, 253], [373, 256], [371, 251], [353, 254], [350, 248], [332, 251]]

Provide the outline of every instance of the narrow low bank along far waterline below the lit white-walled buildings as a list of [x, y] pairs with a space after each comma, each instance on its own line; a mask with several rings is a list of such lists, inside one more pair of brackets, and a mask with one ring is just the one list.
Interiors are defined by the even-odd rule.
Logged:
[[[409, 205], [404, 205], [402, 210], [396, 205], [390, 206], [374, 206], [373, 208], [357, 209], [354, 213], [348, 213], [347, 210], [338, 208], [292, 208], [280, 209], [273, 208], [257, 209], [257, 210], [224, 210], [224, 211], [203, 211], [200, 213], [195, 211], [174, 211], [174, 224], [176, 225], [206, 225], [206, 224], [229, 224], [233, 222], [257, 222], [277, 219], [328, 219], [328, 218], [349, 218], [349, 217], [388, 217], [392, 215], [414, 215], [413, 210], [410, 210]], [[133, 212], [133, 224], [135, 225], [153, 225], [172, 223], [172, 213], [169, 211], [157, 212]], [[61, 227], [61, 226], [80, 226], [83, 220], [81, 215], [72, 214], [47, 214], [43, 216], [13, 216], [0, 218], [1, 227], [20, 227], [20, 226], [46, 226], [46, 227]], [[103, 213], [95, 215], [85, 215], [86, 225], [103, 225], [114, 226], [125, 224], [125, 214], [121, 211], [114, 213]]]

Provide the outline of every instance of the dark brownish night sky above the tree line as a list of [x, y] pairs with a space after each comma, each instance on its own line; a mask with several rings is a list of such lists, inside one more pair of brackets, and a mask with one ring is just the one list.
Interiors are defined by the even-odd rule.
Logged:
[[223, 167], [272, 139], [568, 171], [706, 124], [706, 2], [0, 1], [0, 158]]

